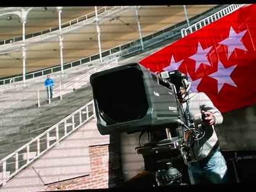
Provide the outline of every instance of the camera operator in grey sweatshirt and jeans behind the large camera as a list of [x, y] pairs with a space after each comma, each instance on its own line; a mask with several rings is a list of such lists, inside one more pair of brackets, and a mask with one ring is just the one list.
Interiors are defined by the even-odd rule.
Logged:
[[186, 75], [176, 70], [169, 80], [176, 87], [177, 98], [189, 127], [194, 127], [190, 135], [190, 149], [194, 158], [187, 160], [190, 183], [229, 183], [228, 168], [213, 126], [222, 123], [223, 116], [205, 93], [190, 91]]

